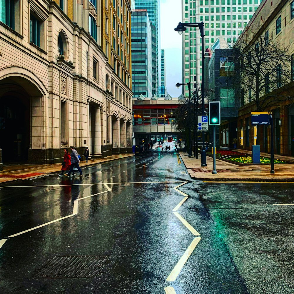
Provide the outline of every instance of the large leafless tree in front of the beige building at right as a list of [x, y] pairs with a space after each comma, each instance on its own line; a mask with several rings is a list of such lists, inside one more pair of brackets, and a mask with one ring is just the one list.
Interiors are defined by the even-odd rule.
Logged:
[[[237, 89], [240, 105], [255, 102], [256, 111], [279, 107], [291, 99], [290, 46], [273, 40], [269, 31], [259, 33], [255, 26], [255, 37], [248, 41], [243, 36], [234, 45], [237, 66], [231, 83]], [[275, 33], [275, 32], [274, 32]], [[257, 144], [260, 144], [260, 126], [257, 126]]]

